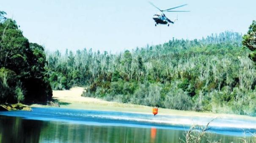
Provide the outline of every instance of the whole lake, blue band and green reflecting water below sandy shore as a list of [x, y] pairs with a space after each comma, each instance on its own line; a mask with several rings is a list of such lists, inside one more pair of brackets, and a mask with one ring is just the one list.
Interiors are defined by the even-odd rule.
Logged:
[[[194, 121], [207, 124], [210, 120], [212, 119], [164, 115], [154, 117], [139, 113], [64, 108], [33, 108], [31, 112], [1, 111], [0, 142], [179, 143], [181, 139], [184, 140], [184, 132], [189, 126], [177, 123]], [[211, 140], [221, 139], [223, 143], [240, 142], [244, 130], [256, 132], [255, 120], [215, 119], [211, 124], [207, 135]], [[237, 125], [246, 129], [236, 128]], [[250, 138], [250, 135], [246, 138]]]

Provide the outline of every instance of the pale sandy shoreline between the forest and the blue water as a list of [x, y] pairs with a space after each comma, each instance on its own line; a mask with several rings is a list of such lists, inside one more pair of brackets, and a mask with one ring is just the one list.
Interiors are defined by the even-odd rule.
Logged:
[[[82, 97], [82, 87], [74, 87], [70, 90], [54, 90], [53, 98], [60, 102], [60, 108], [70, 109], [85, 109], [98, 111], [121, 111], [129, 113], [145, 113], [152, 114], [152, 107], [143, 105], [134, 105], [127, 103], [108, 102], [101, 99]], [[31, 107], [49, 107], [45, 105], [33, 104]], [[247, 119], [256, 121], [256, 117], [235, 115], [235, 114], [217, 114], [217, 113], [202, 113], [195, 111], [179, 111], [172, 109], [159, 108], [158, 115], [170, 116], [198, 116], [207, 118], [231, 118], [231, 119]]]

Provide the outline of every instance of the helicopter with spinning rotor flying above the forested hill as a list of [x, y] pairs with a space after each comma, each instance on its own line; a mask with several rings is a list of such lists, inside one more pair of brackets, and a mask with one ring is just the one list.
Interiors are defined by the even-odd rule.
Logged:
[[179, 6], [176, 6], [174, 8], [168, 8], [168, 9], [165, 9], [165, 10], [161, 10], [160, 8], [158, 8], [156, 5], [154, 5], [153, 3], [149, 2], [151, 5], [153, 5], [155, 8], [157, 8], [160, 12], [158, 12], [157, 14], [154, 14], [153, 16], [153, 19], [154, 21], [156, 22], [155, 26], [157, 26], [157, 24], [167, 24], [168, 26], [170, 26], [170, 23], [174, 24], [174, 22], [176, 20], [178, 20], [178, 18], [174, 19], [173, 21], [171, 21], [170, 19], [168, 19], [166, 16], [165, 16], [165, 13], [163, 12], [190, 12], [190, 11], [170, 11], [172, 9], [175, 9], [175, 8], [179, 8], [179, 7], [182, 7], [182, 6], [185, 6], [187, 4], [184, 4], [184, 5], [179, 5]]

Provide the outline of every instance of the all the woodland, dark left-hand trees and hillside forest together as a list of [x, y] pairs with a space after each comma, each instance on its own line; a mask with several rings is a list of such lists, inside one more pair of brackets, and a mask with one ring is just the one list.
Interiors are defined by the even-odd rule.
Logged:
[[256, 116], [256, 22], [248, 33], [169, 40], [116, 54], [30, 43], [0, 11], [0, 103], [47, 102], [53, 90], [188, 111]]

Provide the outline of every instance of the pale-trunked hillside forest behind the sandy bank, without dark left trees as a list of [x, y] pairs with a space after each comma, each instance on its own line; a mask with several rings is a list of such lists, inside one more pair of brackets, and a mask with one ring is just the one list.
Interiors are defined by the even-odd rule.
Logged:
[[255, 66], [242, 35], [173, 39], [119, 54], [91, 49], [47, 53], [53, 89], [86, 86], [83, 96], [179, 110], [256, 115]]

